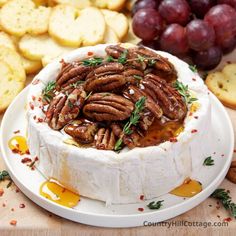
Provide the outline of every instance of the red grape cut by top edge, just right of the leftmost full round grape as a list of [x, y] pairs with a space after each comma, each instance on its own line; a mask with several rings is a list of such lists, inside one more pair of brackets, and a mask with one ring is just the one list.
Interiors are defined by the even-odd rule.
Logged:
[[186, 0], [163, 0], [158, 9], [169, 24], [186, 25], [189, 21], [190, 7]]

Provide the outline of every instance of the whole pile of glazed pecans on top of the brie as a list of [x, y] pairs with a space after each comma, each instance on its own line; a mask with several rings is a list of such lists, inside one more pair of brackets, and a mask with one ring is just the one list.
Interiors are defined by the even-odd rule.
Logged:
[[[52, 99], [44, 110], [52, 129], [64, 129], [81, 145], [114, 150], [117, 140], [122, 140], [123, 147], [132, 149], [155, 119], [185, 118], [187, 106], [173, 87], [177, 72], [168, 59], [141, 46], [112, 45], [106, 53], [112, 60], [103, 58], [91, 65], [82, 60], [61, 62]], [[125, 134], [124, 125], [142, 97], [139, 121]]]

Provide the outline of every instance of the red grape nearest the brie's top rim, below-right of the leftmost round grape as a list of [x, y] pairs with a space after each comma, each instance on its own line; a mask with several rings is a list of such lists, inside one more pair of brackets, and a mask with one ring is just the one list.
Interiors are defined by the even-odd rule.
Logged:
[[178, 24], [168, 25], [160, 37], [160, 47], [175, 55], [186, 53], [188, 40], [185, 28]]

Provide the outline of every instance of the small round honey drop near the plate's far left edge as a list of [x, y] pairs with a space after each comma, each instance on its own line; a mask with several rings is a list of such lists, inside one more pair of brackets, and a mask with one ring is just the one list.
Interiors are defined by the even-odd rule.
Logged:
[[26, 138], [20, 135], [12, 137], [8, 141], [8, 147], [13, 153], [18, 153], [20, 155], [29, 154]]

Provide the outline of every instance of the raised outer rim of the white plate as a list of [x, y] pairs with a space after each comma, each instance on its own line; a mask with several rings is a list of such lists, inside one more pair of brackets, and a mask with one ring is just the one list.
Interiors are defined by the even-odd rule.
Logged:
[[[85, 212], [79, 212], [79, 211], [75, 211], [74, 209], [61, 206], [57, 203], [54, 203], [50, 200], [43, 198], [39, 194], [36, 194], [35, 192], [33, 192], [29, 188], [27, 188], [27, 186], [24, 183], [18, 181], [17, 176], [14, 174], [14, 171], [10, 165], [10, 162], [8, 162], [8, 157], [5, 152], [3, 128], [6, 126], [5, 123], [7, 124], [8, 113], [10, 113], [10, 111], [13, 109], [14, 105], [18, 102], [19, 98], [24, 97], [24, 96], [27, 98], [27, 92], [29, 90], [29, 87], [30, 87], [30, 85], [25, 87], [15, 97], [15, 99], [12, 101], [12, 103], [10, 104], [8, 109], [5, 111], [4, 116], [2, 118], [2, 123], [1, 123], [1, 127], [0, 127], [0, 149], [2, 152], [2, 157], [3, 157], [2, 159], [6, 165], [7, 170], [10, 173], [11, 178], [17, 184], [17, 186], [20, 188], [20, 190], [24, 193], [24, 195], [26, 195], [30, 200], [32, 200], [35, 204], [39, 205], [40, 207], [42, 207], [42, 208], [46, 209], [47, 211], [50, 211], [56, 215], [59, 215], [63, 218], [72, 220], [77, 223], [87, 224], [87, 225], [93, 225], [93, 226], [99, 226], [99, 227], [115, 227], [115, 228], [141, 226], [140, 223], [129, 224], [127, 222], [126, 223], [119, 222], [119, 219], [124, 220], [124, 219], [130, 219], [130, 218], [137, 218], [137, 220], [143, 219], [142, 222], [144, 222], [145, 217], [148, 218], [148, 217], [153, 217], [153, 216], [157, 216], [157, 215], [161, 215], [161, 214], [163, 214], [164, 217], [162, 217], [162, 218], [160, 217], [161, 219], [157, 220], [158, 222], [163, 221], [163, 220], [167, 220], [167, 219], [171, 219], [177, 215], [183, 214], [184, 212], [191, 210], [192, 208], [199, 205], [206, 198], [208, 198], [210, 196], [210, 194], [214, 191], [214, 189], [216, 189], [219, 186], [219, 184], [224, 180], [225, 175], [229, 169], [231, 160], [233, 158], [233, 147], [234, 147], [233, 125], [232, 125], [231, 119], [230, 119], [225, 107], [220, 103], [218, 98], [213, 93], [211, 93], [209, 91], [210, 99], [213, 101], [213, 102], [211, 102], [212, 106], [213, 106], [213, 104], [215, 106], [218, 106], [218, 108], [220, 108], [220, 110], [223, 112], [223, 116], [225, 116], [225, 118], [227, 120], [227, 125], [229, 126], [230, 140], [231, 140], [231, 142], [229, 143], [229, 148], [231, 148], [231, 150], [229, 151], [230, 155], [227, 157], [227, 160], [226, 160], [224, 166], [222, 167], [221, 172], [216, 176], [216, 178], [206, 188], [203, 189], [202, 192], [200, 192], [199, 194], [195, 195], [192, 198], [189, 198], [188, 200], [186, 200], [184, 202], [181, 202], [179, 204], [176, 204], [176, 205], [164, 208], [164, 209], [160, 209], [158, 211], [145, 212], [145, 213], [142, 212], [142, 213], [128, 214], [128, 215], [109, 215], [109, 214], [101, 214], [101, 213], [85, 213]], [[178, 210], [178, 208], [180, 208], [180, 210]], [[172, 211], [173, 214], [171, 215], [171, 217], [169, 217], [169, 216], [166, 217], [165, 215], [166, 215], [166, 213], [168, 214], [169, 211]], [[79, 217], [74, 217], [73, 216], [74, 214], [78, 215]], [[85, 220], [78, 219], [80, 217], [85, 217]], [[99, 218], [102, 218], [102, 220], [104, 220], [104, 222], [106, 222], [106, 220], [112, 219], [112, 220], [115, 220], [119, 223], [112, 222], [109, 225], [108, 225], [108, 223], [101, 224], [101, 223], [93, 222], [90, 219], [86, 219], [86, 217], [87, 218], [88, 217], [92, 217], [92, 218], [99, 217]]]

